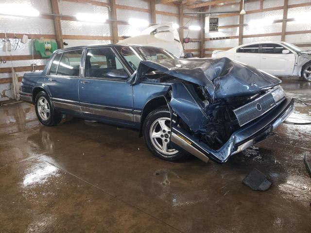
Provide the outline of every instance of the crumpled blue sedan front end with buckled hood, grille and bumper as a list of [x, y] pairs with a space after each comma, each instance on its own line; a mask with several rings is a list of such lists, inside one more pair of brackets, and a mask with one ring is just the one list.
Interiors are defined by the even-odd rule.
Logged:
[[166, 100], [171, 112], [171, 147], [199, 159], [224, 163], [274, 135], [294, 110], [280, 80], [227, 58], [145, 61], [136, 80], [163, 72], [170, 79]]

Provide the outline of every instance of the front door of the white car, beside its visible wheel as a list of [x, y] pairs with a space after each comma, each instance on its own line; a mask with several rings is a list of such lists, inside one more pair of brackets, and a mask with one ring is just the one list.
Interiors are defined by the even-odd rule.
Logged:
[[[283, 53], [287, 52], [287, 53]], [[292, 75], [295, 55], [280, 44], [265, 43], [261, 45], [260, 69], [273, 75]]]

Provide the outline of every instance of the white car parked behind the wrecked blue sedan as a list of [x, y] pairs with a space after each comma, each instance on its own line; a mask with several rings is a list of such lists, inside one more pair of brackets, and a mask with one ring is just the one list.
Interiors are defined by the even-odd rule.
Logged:
[[215, 50], [213, 58], [227, 57], [276, 76], [301, 76], [311, 81], [311, 51], [287, 42], [257, 42]]

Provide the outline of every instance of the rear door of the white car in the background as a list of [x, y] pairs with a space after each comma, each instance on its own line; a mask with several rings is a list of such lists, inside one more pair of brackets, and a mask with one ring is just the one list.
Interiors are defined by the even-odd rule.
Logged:
[[247, 45], [238, 48], [234, 59], [248, 66], [259, 68], [259, 44]]

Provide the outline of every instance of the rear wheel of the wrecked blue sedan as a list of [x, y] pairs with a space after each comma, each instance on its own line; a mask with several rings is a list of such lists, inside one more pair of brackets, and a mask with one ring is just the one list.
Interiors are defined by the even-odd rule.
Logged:
[[49, 95], [44, 91], [40, 91], [35, 97], [35, 113], [45, 126], [57, 125], [62, 120], [62, 115], [55, 110]]

